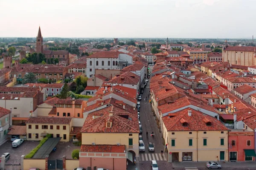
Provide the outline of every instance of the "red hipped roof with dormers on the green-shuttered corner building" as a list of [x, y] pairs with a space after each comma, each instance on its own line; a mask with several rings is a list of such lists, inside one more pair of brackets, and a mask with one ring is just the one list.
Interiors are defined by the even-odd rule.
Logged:
[[[188, 115], [188, 111], [192, 111], [191, 116]], [[228, 130], [227, 127], [214, 117], [205, 115], [192, 108], [186, 108], [176, 113], [177, 116], [171, 118], [164, 116], [162, 118], [168, 131]], [[181, 119], [186, 120], [187, 126], [182, 125]], [[207, 125], [206, 122], [211, 122], [211, 125]]]

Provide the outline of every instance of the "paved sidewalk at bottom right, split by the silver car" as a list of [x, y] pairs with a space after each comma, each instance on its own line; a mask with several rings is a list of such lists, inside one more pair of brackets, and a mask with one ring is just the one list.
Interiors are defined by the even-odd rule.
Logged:
[[[256, 161], [237, 161], [237, 162], [229, 162], [229, 161], [219, 161], [217, 162], [222, 167], [256, 167]], [[205, 162], [172, 162], [173, 167], [206, 167]]]

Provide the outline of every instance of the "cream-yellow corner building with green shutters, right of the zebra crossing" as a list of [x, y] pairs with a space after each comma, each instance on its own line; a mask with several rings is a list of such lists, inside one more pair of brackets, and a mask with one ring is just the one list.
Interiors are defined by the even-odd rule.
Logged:
[[228, 129], [191, 108], [163, 118], [168, 161], [228, 161]]

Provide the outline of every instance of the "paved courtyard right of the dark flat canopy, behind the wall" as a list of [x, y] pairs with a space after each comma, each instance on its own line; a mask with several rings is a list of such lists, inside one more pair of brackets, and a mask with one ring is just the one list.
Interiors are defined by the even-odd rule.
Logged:
[[56, 151], [49, 155], [49, 160], [62, 159], [63, 156], [67, 156], [67, 159], [72, 159], [71, 154], [74, 149], [80, 150], [80, 146], [75, 146], [73, 142], [58, 142]]

